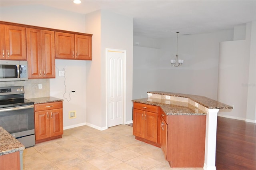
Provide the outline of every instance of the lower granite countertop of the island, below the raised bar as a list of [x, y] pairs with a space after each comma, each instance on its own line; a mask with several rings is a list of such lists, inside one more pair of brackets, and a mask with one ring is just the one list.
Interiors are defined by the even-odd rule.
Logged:
[[[166, 115], [206, 115], [206, 112], [181, 101], [170, 101], [157, 98], [143, 98], [132, 100], [136, 103], [160, 106]], [[166, 104], [168, 101], [168, 104]], [[169, 104], [170, 103], [170, 104]]]

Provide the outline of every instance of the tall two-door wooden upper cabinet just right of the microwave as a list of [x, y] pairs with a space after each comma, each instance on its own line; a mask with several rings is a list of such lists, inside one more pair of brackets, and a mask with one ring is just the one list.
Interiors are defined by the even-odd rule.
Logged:
[[55, 78], [54, 32], [26, 29], [28, 78]]

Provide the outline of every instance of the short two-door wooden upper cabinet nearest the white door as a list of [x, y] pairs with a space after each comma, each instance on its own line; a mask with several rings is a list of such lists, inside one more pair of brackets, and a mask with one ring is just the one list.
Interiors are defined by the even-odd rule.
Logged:
[[55, 58], [92, 60], [92, 36], [55, 32]]

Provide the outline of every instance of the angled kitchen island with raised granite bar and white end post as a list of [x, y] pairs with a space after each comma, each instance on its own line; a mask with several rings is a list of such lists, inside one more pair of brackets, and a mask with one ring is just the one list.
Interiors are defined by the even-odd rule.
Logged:
[[173, 168], [216, 169], [217, 113], [231, 106], [204, 96], [162, 91], [132, 101], [136, 139], [161, 147]]

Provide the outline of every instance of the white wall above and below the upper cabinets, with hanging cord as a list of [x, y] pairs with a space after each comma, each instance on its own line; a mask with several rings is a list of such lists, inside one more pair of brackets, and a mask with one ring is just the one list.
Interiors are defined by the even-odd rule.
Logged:
[[[84, 15], [56, 8], [39, 5], [1, 7], [0, 14], [1, 21], [86, 33]], [[86, 123], [86, 62], [90, 61], [56, 59], [56, 79], [50, 79], [50, 82], [48, 81], [48, 84], [45, 84], [47, 86], [45, 88], [50, 88], [51, 96], [64, 99], [62, 96], [65, 93], [64, 78], [58, 77], [58, 69], [63, 69], [66, 66], [67, 93], [71, 90], [75, 90], [76, 93], [70, 95], [72, 99], [70, 102], [67, 102], [66, 99], [63, 101], [64, 128]], [[33, 88], [33, 90], [35, 93], [37, 93], [37, 90], [39, 91], [36, 88]], [[68, 119], [68, 112], [74, 110], [76, 110], [76, 119]]]

